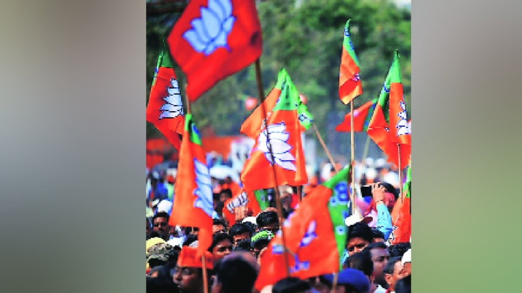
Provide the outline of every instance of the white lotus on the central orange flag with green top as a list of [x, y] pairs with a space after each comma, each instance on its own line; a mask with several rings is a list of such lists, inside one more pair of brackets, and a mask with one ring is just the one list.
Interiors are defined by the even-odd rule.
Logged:
[[[270, 124], [261, 133], [259, 133], [257, 150], [265, 153], [266, 160], [270, 164], [279, 165], [283, 169], [297, 170], [293, 162], [295, 162], [294, 156], [290, 153], [292, 146], [287, 143], [290, 138], [290, 133], [287, 131], [284, 122], [278, 124]], [[274, 154], [274, 161], [270, 157], [270, 151], [268, 150], [267, 131], [270, 137], [270, 144], [272, 146], [272, 153]]]

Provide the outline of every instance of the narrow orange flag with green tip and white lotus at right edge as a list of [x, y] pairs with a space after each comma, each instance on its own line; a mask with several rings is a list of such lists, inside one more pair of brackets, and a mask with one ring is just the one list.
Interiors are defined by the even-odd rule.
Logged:
[[[401, 83], [400, 76], [400, 65], [399, 65], [399, 53], [396, 51], [394, 56], [393, 66], [393, 75], [390, 80], [390, 136], [392, 142], [395, 142], [400, 147], [400, 155], [401, 155], [401, 168], [406, 167], [404, 165], [404, 160], [402, 157], [405, 156], [407, 158], [406, 162], [408, 162], [411, 154], [411, 130], [408, 123], [408, 117], [406, 113], [406, 103], [404, 102], [404, 94]], [[395, 152], [397, 154], [397, 152]], [[397, 158], [395, 156], [388, 158], [388, 160], [397, 161], [398, 162], [398, 154]], [[407, 164], [407, 163], [406, 163]]]

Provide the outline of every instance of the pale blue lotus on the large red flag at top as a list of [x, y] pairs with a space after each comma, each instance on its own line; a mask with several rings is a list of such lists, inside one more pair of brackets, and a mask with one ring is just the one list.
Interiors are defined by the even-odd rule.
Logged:
[[227, 46], [227, 36], [234, 26], [230, 0], [209, 0], [208, 7], [201, 7], [201, 18], [191, 21], [192, 28], [183, 34], [195, 51], [205, 56], [212, 54], [219, 47]]

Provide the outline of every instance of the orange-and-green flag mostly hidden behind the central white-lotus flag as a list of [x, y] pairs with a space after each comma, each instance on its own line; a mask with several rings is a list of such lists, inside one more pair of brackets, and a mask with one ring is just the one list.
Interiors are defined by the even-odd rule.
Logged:
[[[270, 91], [270, 93], [268, 93], [263, 102], [265, 104], [266, 113], [263, 113], [263, 105], [259, 104], [250, 116], [245, 119], [239, 131], [250, 138], [256, 139], [259, 136], [259, 132], [263, 125], [266, 124], [265, 117], [271, 115], [272, 109], [276, 106], [279, 96], [281, 95], [281, 89], [286, 86], [288, 86], [292, 100], [296, 103], [301, 131], [309, 129], [314, 118], [308, 111], [306, 105], [299, 98], [299, 91], [295, 88], [287, 70], [282, 68], [279, 70], [276, 86]], [[265, 123], [263, 121], [265, 121]]]

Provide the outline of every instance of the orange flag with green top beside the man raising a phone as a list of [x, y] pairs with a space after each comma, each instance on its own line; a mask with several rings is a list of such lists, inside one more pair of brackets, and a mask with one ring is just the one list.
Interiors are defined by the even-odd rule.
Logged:
[[411, 237], [411, 166], [408, 167], [406, 183], [402, 188], [402, 196], [397, 199], [392, 210], [392, 233], [388, 238], [389, 245], [410, 242]]

